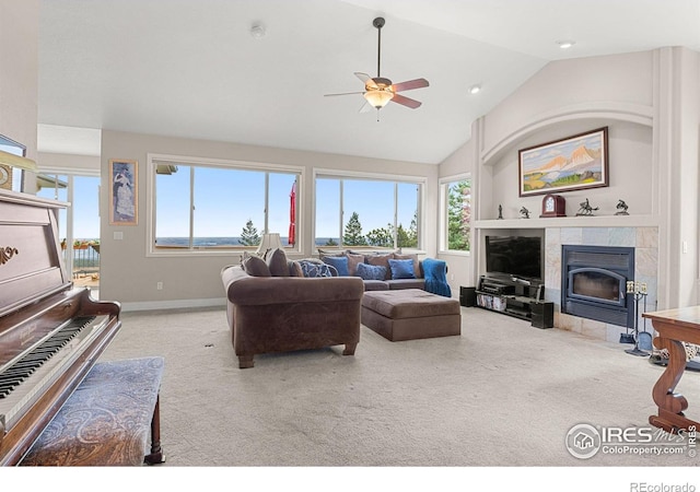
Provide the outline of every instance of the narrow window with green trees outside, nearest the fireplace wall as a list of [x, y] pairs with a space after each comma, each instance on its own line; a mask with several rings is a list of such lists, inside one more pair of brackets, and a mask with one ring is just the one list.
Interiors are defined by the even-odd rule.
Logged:
[[441, 249], [471, 249], [471, 177], [469, 175], [441, 179], [443, 203]]

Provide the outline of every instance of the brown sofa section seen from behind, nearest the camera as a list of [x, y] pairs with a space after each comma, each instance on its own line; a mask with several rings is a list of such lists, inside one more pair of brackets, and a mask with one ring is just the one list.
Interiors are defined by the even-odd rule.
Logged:
[[345, 344], [342, 354], [354, 354], [362, 279], [290, 277], [289, 270], [279, 277], [269, 272], [254, 277], [242, 266], [224, 267], [221, 279], [240, 368], [253, 367], [254, 355], [260, 353]]

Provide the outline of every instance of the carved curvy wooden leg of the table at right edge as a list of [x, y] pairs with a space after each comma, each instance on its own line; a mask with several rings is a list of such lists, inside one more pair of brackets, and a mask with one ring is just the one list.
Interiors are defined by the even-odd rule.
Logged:
[[657, 349], [668, 350], [668, 365], [652, 389], [652, 397], [658, 406], [658, 415], [651, 415], [649, 422], [670, 433], [678, 433], [681, 429], [688, 430], [690, 425], [698, 425], [684, 414], [684, 410], [688, 408], [686, 397], [674, 393], [686, 368], [686, 351], [682, 343], [656, 337], [654, 345]]

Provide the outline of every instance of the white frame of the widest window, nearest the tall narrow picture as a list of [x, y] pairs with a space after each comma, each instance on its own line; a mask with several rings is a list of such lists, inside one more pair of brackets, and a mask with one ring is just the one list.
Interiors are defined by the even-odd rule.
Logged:
[[[294, 246], [285, 246], [285, 250], [290, 254], [299, 253], [303, 250], [303, 236], [300, 234], [303, 231], [303, 214], [300, 213], [303, 210], [303, 188], [305, 168], [303, 166], [285, 165], [285, 164], [271, 164], [254, 161], [235, 161], [226, 159], [212, 159], [212, 157], [198, 157], [191, 155], [175, 155], [175, 154], [161, 154], [161, 153], [148, 153], [147, 154], [147, 214], [145, 214], [145, 256], [147, 257], [180, 257], [180, 256], [231, 256], [231, 254], [243, 254], [243, 251], [254, 251], [256, 248], [252, 246], [233, 246], [229, 248], [206, 248], [206, 247], [187, 247], [187, 248], [159, 248], [155, 246], [155, 213], [156, 213], [156, 189], [155, 189], [155, 167], [158, 164], [175, 164], [191, 167], [218, 167], [223, 169], [240, 169], [240, 171], [253, 171], [260, 173], [280, 173], [280, 174], [294, 174], [296, 175], [296, 195], [295, 195], [295, 226], [296, 226], [296, 242]], [[192, 183], [190, 181], [190, 192], [194, 191]], [[265, 200], [268, 199], [268, 186], [269, 179], [266, 176], [265, 179]], [[268, 210], [265, 210], [265, 223], [260, 234], [267, 232], [268, 226]], [[191, 232], [190, 232], [191, 234]]]

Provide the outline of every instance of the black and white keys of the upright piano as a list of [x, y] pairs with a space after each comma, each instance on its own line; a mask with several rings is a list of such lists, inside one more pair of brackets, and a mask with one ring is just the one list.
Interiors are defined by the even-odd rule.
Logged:
[[63, 327], [56, 330], [34, 349], [30, 350], [16, 361], [13, 361], [0, 373], [0, 399], [5, 398], [10, 393], [20, 386], [38, 367], [48, 361], [56, 352], [75, 337], [94, 316], [80, 316], [71, 319]]

